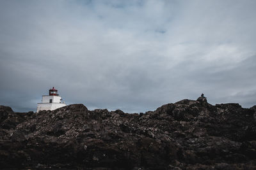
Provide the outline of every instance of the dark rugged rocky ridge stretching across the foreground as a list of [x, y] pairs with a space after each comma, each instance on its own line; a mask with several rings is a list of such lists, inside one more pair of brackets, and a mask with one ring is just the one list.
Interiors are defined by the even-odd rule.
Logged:
[[256, 169], [256, 106], [202, 96], [156, 111], [13, 113], [0, 106], [2, 169]]

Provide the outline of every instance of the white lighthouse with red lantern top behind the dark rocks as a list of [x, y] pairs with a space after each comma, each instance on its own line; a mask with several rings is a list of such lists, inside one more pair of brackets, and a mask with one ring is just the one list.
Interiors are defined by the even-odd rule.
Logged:
[[63, 106], [67, 106], [67, 104], [62, 101], [58, 90], [52, 87], [52, 89], [49, 90], [48, 96], [42, 96], [42, 103], [37, 104], [36, 112], [40, 110], [56, 110]]

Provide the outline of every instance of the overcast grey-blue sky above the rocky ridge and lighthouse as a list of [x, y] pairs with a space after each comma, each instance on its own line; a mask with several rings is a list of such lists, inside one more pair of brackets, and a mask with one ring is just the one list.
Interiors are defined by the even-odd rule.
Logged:
[[0, 1], [0, 104], [256, 104], [256, 1]]

